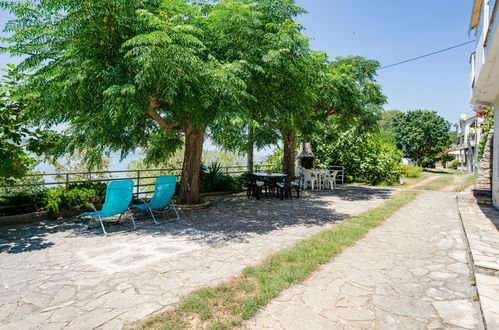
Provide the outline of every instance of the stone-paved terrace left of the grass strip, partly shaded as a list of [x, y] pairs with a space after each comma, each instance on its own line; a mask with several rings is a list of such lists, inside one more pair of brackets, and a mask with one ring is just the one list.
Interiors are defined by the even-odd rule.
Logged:
[[109, 237], [74, 220], [0, 228], [0, 328], [119, 329], [391, 193], [345, 187], [292, 201], [227, 196], [178, 223], [143, 220], [139, 230]]

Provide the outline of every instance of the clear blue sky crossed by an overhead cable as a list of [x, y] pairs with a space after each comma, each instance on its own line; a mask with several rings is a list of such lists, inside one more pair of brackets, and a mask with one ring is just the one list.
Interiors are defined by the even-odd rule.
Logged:
[[[388, 65], [473, 40], [470, 0], [297, 0], [312, 47], [331, 58], [360, 55]], [[0, 25], [7, 21], [0, 12]], [[451, 123], [471, 113], [469, 56], [474, 44], [379, 72], [385, 109], [436, 110]], [[0, 54], [0, 67], [16, 63]]]

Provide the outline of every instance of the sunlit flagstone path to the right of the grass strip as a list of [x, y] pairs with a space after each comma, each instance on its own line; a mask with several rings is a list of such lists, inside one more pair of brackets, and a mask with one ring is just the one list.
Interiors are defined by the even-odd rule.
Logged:
[[465, 244], [455, 194], [422, 193], [248, 328], [483, 329]]

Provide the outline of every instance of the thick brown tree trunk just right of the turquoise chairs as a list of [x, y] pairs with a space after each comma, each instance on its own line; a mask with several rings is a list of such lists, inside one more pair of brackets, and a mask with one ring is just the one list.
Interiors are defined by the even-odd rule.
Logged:
[[180, 187], [181, 204], [198, 204], [200, 191], [200, 167], [203, 153], [204, 130], [193, 129], [191, 125], [184, 127], [185, 152]]

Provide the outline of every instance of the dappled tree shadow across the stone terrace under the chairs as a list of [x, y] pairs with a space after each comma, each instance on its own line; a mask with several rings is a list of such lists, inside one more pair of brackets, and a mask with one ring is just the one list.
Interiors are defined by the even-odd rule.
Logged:
[[[181, 213], [181, 220], [154, 225], [150, 218], [137, 221], [138, 230], [115, 235], [123, 239], [144, 235], [182, 237], [200, 244], [224, 245], [246, 242], [253, 235], [263, 235], [293, 226], [326, 226], [349, 217], [335, 210], [337, 200], [362, 202], [388, 199], [393, 193], [388, 188], [340, 187], [334, 191], [304, 191], [302, 198], [279, 200], [272, 197], [255, 200], [245, 194], [211, 198], [212, 207]], [[336, 200], [336, 201], [335, 201]], [[124, 219], [110, 226], [109, 232], [130, 228]], [[162, 221], [167, 221], [163, 219]], [[112, 222], [112, 221], [111, 221]], [[53, 234], [63, 233], [63, 235]], [[57, 244], [60, 239], [95, 237], [97, 243], [109, 239], [100, 228], [86, 229], [86, 222], [63, 219], [0, 228], [0, 253], [23, 253], [43, 250]]]

